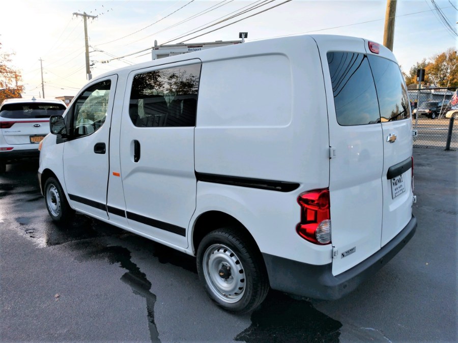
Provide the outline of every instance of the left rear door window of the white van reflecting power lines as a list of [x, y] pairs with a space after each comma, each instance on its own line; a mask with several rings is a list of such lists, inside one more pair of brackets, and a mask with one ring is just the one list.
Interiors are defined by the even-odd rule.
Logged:
[[355, 52], [328, 52], [327, 60], [339, 125], [380, 123], [374, 79], [367, 56]]

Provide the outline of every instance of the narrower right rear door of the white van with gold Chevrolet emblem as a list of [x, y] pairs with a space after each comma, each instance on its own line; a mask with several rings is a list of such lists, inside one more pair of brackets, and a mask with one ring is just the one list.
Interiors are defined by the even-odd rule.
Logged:
[[[368, 42], [366, 41], [368, 50]], [[367, 51], [383, 130], [383, 222], [381, 246], [412, 218], [412, 120], [407, 87], [391, 51]]]

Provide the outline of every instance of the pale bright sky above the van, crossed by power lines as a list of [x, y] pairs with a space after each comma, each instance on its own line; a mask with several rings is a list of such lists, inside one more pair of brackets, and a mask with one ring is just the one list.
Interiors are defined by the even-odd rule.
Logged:
[[[456, 32], [456, 0], [397, 1], [393, 53], [406, 72], [423, 58], [430, 59], [458, 46], [457, 36], [441, 21], [433, 3]], [[91, 71], [95, 77], [151, 60], [150, 48], [155, 40], [158, 44], [239, 40], [239, 32], [248, 32], [246, 42], [297, 34], [330, 34], [383, 43], [386, 4], [386, 0], [15, 0], [2, 4], [0, 53], [14, 53], [11, 66], [22, 74], [19, 84], [25, 87], [24, 98], [43, 97], [40, 59], [45, 97], [75, 96], [88, 80], [83, 19], [73, 13], [97, 16], [88, 19]], [[255, 14], [263, 10], [267, 11]], [[255, 15], [246, 18], [252, 14]], [[242, 18], [246, 19], [205, 34]], [[194, 38], [201, 34], [205, 35]], [[112, 61], [106, 63], [107, 60]]]

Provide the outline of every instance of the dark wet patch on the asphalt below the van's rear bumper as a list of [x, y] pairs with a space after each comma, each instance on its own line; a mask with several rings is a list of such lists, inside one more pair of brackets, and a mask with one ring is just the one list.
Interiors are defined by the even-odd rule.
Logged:
[[338, 342], [342, 324], [313, 308], [270, 291], [260, 308], [251, 314], [251, 325], [234, 339], [247, 343]]

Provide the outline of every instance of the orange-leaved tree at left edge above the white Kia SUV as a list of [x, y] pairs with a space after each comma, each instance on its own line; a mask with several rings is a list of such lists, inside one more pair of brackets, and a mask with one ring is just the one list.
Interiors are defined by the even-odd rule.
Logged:
[[[0, 43], [2, 49], [2, 43]], [[24, 86], [19, 85], [22, 81], [21, 73], [11, 67], [11, 56], [14, 53], [0, 52], [0, 101], [11, 98], [19, 98], [24, 91]]]

